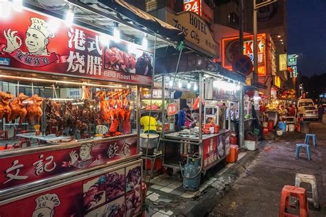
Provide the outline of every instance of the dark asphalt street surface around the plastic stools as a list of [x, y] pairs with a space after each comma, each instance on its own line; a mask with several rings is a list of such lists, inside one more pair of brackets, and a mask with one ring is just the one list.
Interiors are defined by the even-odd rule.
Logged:
[[301, 151], [300, 159], [294, 159], [296, 144], [305, 137], [301, 133], [286, 133], [269, 141], [250, 164], [250, 172], [235, 181], [210, 216], [278, 216], [281, 190], [284, 185], [294, 185], [296, 173], [316, 176], [320, 209], [309, 204], [309, 216], [326, 216], [326, 125], [312, 122], [310, 133], [317, 135], [318, 143], [311, 146], [312, 161], [307, 160], [305, 151]]

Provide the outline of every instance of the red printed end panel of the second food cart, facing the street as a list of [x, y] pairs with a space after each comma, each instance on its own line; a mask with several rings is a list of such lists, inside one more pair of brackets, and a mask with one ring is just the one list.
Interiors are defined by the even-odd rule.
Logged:
[[230, 131], [205, 139], [203, 143], [204, 169], [215, 165], [230, 153]]

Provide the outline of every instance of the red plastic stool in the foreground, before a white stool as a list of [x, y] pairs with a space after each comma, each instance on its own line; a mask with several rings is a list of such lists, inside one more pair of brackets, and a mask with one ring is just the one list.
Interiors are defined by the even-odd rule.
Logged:
[[279, 217], [295, 217], [296, 215], [287, 212], [287, 208], [290, 207], [289, 197], [294, 196], [298, 198], [300, 207], [300, 217], [308, 217], [308, 200], [307, 190], [303, 187], [295, 187], [291, 185], [285, 185], [281, 193], [281, 203]]

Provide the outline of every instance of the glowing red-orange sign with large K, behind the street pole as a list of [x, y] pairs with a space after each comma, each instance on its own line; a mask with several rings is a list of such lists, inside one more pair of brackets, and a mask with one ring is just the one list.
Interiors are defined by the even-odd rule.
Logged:
[[[266, 46], [265, 34], [257, 34], [257, 56], [258, 56], [258, 76], [266, 76]], [[222, 65], [232, 70], [232, 61], [239, 55], [239, 49], [243, 49], [243, 54], [254, 61], [254, 41], [253, 36], [243, 36], [243, 47], [239, 45], [239, 37], [222, 39]]]

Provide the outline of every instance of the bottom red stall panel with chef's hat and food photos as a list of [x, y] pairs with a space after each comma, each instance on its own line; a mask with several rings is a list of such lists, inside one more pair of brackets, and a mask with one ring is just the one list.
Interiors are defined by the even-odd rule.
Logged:
[[142, 205], [141, 161], [1, 205], [0, 216], [136, 216]]

